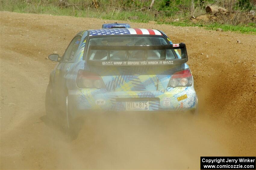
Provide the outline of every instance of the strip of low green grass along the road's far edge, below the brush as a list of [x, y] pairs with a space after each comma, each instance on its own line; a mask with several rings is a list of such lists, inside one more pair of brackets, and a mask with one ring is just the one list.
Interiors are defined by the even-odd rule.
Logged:
[[[94, 0], [96, 1], [96, 0]], [[130, 0], [126, 0], [130, 2]], [[176, 0], [175, 2], [180, 2], [181, 0]], [[195, 0], [194, 0], [195, 1]], [[34, 14], [52, 14], [52, 15], [66, 15], [66, 16], [74, 16], [74, 17], [94, 17], [101, 18], [106, 20], [127, 20], [129, 16], [138, 16], [137, 20], [131, 20], [132, 22], [142, 22], [146, 23], [148, 21], [156, 21], [159, 24], [170, 24], [173, 26], [198, 26], [205, 29], [217, 29], [221, 28], [223, 31], [235, 31], [241, 33], [249, 33], [255, 34], [256, 27], [255, 23], [249, 23], [247, 25], [231, 25], [231, 24], [220, 24], [220, 23], [204, 23], [198, 22], [193, 23], [188, 19], [189, 11], [180, 14], [176, 8], [174, 10], [166, 14], [167, 7], [164, 7], [163, 10], [160, 11], [158, 15], [156, 15], [155, 11], [141, 11], [127, 8], [126, 10], [121, 10], [121, 8], [111, 8], [111, 10], [106, 7], [101, 7], [98, 10], [90, 6], [91, 1], [83, 1], [83, 3], [87, 3], [87, 5], [83, 5], [83, 7], [71, 5], [68, 8], [62, 8], [56, 4], [58, 1], [54, 0], [25, 0], [25, 1], [14, 1], [14, 0], [1, 0], [0, 1], [0, 11], [12, 11], [18, 13], [34, 13]], [[71, 1], [81, 2], [80, 0]], [[101, 1], [100, 1], [101, 2]], [[103, 1], [105, 2], [105, 1]], [[112, 1], [113, 2], [113, 1]], [[133, 1], [139, 3], [140, 1]], [[148, 1], [150, 2], [150, 1]], [[89, 5], [88, 5], [89, 4]], [[159, 5], [159, 4], [158, 4]], [[161, 6], [161, 4], [160, 4]], [[142, 5], [140, 6], [142, 7]], [[160, 8], [160, 7], [157, 7]], [[183, 18], [178, 22], [173, 22], [170, 18]]]

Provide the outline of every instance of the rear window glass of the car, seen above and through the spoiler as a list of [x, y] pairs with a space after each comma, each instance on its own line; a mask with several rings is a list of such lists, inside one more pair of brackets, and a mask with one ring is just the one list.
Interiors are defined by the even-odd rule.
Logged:
[[[92, 38], [89, 40], [90, 45], [112, 45], [112, 46], [139, 46], [139, 45], [167, 45], [168, 42], [163, 37], [101, 37]], [[173, 50], [147, 50], [145, 51], [109, 51], [110, 60], [143, 60], [147, 55], [147, 60], [165, 60], [174, 59]], [[88, 54], [89, 60], [108, 60], [108, 51], [105, 50], [90, 50]]]

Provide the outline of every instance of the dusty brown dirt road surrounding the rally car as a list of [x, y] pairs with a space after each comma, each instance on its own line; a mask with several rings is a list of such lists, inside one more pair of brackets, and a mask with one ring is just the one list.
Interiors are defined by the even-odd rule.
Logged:
[[62, 55], [77, 32], [100, 28], [105, 20], [0, 15], [1, 169], [195, 169], [200, 156], [255, 156], [255, 35], [130, 23], [186, 43], [199, 118], [95, 115], [67, 142], [45, 116], [56, 65], [45, 58]]

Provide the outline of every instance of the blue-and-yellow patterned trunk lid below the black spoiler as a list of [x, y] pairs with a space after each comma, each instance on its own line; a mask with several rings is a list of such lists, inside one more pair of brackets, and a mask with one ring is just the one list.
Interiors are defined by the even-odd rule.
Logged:
[[108, 91], [161, 91], [177, 66], [90, 66]]

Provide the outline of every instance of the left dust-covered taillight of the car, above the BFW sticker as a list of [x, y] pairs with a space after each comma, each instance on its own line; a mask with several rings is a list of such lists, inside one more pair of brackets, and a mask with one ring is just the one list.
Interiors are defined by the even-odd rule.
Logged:
[[78, 70], [76, 84], [79, 88], [105, 88], [101, 76], [85, 70]]

